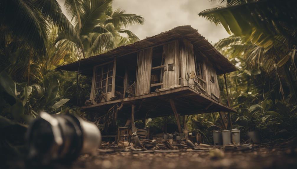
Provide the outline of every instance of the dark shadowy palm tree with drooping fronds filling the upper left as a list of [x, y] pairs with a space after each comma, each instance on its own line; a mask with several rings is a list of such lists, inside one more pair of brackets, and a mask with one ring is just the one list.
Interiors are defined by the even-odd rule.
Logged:
[[[80, 41], [56, 0], [2, 0], [0, 14], [1, 58], [7, 61], [14, 56], [18, 64], [10, 73], [20, 78], [26, 75], [28, 82], [31, 66], [35, 69], [34, 64], [50, 64], [48, 35], [52, 26], [57, 27], [60, 34]], [[6, 68], [10, 63], [5, 62], [1, 67]]]

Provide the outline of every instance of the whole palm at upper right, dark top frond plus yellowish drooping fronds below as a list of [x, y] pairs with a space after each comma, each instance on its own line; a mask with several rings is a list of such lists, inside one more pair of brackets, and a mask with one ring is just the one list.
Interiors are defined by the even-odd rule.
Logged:
[[[229, 47], [234, 54], [244, 52], [249, 66], [262, 66], [266, 71], [284, 69], [284, 77], [295, 102], [297, 45], [297, 1], [219, 0], [226, 6], [207, 9], [199, 16], [223, 25], [230, 38], [217, 43]], [[235, 40], [235, 41], [232, 41]], [[290, 59], [291, 58], [291, 59]], [[279, 72], [276, 72], [279, 73]]]

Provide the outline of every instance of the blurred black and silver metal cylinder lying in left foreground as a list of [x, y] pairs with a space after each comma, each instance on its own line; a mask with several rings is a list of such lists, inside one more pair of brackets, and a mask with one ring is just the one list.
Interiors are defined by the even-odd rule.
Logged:
[[94, 154], [101, 142], [97, 126], [72, 115], [40, 113], [27, 131], [29, 160], [74, 160]]

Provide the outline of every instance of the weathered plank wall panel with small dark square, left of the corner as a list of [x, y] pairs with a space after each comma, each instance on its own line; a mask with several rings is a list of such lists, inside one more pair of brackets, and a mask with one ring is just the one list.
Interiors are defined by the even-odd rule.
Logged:
[[[164, 71], [162, 88], [168, 88], [175, 85], [179, 85], [178, 40], [174, 40], [170, 43], [165, 44], [163, 46], [163, 50], [165, 54], [165, 66], [167, 70]], [[168, 70], [169, 64], [174, 64], [172, 71]]]

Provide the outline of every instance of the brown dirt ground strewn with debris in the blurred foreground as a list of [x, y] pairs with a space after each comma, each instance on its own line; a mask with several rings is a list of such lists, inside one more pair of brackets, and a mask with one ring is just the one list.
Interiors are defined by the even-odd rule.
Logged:
[[96, 156], [82, 155], [71, 169], [174, 169], [174, 168], [297, 168], [297, 151], [292, 147], [258, 147], [253, 150], [135, 153], [112, 152]]

